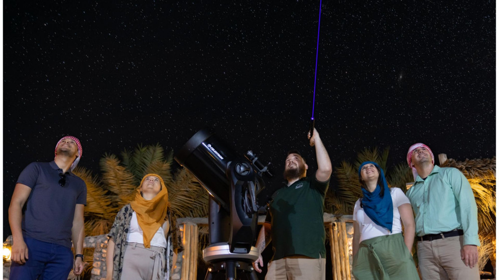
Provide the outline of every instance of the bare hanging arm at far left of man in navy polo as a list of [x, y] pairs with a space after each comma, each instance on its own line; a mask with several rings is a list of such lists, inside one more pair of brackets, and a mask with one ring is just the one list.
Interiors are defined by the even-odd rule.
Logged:
[[11, 260], [20, 265], [28, 259], [28, 248], [22, 238], [22, 207], [31, 193], [31, 188], [23, 184], [15, 184], [14, 193], [8, 207], [8, 222], [12, 232], [12, 256]]

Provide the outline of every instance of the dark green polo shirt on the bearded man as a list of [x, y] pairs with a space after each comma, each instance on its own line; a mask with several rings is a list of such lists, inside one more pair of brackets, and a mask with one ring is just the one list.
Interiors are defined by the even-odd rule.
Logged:
[[270, 203], [265, 222], [271, 225], [272, 260], [294, 255], [326, 257], [324, 242], [324, 195], [329, 186], [315, 175], [278, 189]]

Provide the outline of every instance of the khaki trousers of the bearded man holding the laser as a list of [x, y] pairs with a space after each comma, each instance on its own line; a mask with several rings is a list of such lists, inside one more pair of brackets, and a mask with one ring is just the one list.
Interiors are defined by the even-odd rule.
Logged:
[[325, 280], [326, 259], [305, 256], [288, 257], [271, 261], [265, 280]]

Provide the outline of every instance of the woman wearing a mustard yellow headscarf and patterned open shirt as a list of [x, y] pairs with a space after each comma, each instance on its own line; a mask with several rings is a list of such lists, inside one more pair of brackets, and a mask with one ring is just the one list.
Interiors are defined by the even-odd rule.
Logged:
[[180, 242], [161, 176], [142, 178], [135, 198], [118, 212], [108, 236], [106, 280], [170, 279]]

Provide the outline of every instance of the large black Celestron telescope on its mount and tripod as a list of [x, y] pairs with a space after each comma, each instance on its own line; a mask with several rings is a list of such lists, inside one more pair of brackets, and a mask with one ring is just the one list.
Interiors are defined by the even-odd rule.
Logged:
[[[203, 250], [203, 260], [209, 264], [205, 280], [212, 280], [220, 272], [227, 280], [235, 280], [237, 271], [257, 280], [252, 262], [258, 250], [252, 246], [256, 236], [259, 204], [266, 204], [268, 196], [258, 200], [265, 188], [262, 176], [272, 177], [268, 168], [249, 150], [245, 157], [215, 134], [198, 131], [175, 155], [210, 193], [209, 241]], [[263, 200], [263, 201], [261, 201]]]

